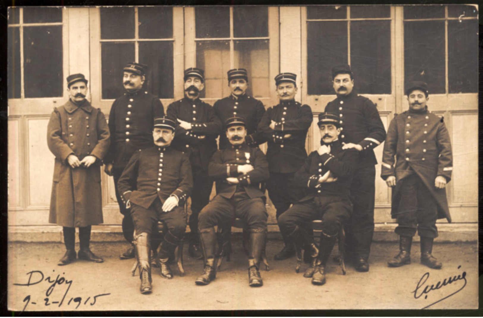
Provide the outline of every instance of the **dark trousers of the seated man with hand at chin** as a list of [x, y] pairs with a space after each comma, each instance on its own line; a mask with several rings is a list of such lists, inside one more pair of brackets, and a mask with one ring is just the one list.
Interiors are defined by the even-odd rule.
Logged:
[[316, 196], [292, 205], [278, 218], [278, 226], [285, 236], [289, 236], [297, 226], [307, 228], [311, 221], [321, 219], [322, 232], [333, 236], [349, 221], [351, 212], [352, 204], [348, 198]]

